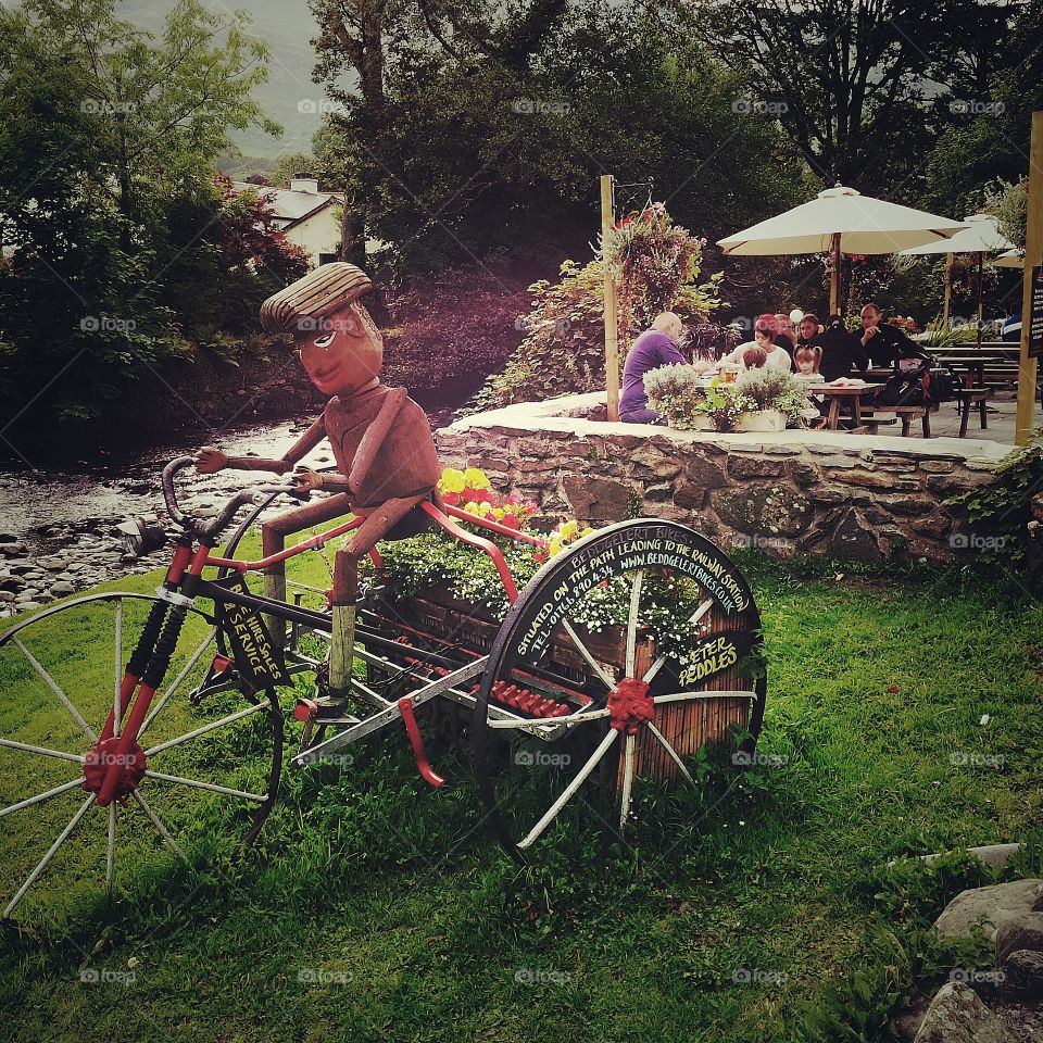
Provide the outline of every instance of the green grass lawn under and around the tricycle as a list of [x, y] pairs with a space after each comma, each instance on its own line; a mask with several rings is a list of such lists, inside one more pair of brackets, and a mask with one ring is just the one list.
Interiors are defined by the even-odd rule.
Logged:
[[[451, 780], [432, 791], [404, 741], [378, 743], [289, 774], [243, 862], [199, 878], [153, 851], [129, 897], [9, 932], [2, 1036], [885, 1039], [914, 978], [989, 966], [988, 946], [942, 951], [925, 930], [985, 874], [888, 860], [1043, 826], [1043, 605], [955, 575], [746, 565], [765, 763], [726, 800], [632, 847], [588, 818], [519, 869], [480, 828], [466, 744], [432, 741]], [[56, 636], [55, 655], [89, 663], [93, 640]], [[34, 712], [16, 681], [0, 674], [0, 719]]]

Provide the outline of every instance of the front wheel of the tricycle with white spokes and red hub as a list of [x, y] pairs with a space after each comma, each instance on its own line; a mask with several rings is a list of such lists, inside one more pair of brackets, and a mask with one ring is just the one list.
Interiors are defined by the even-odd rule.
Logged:
[[[252, 842], [272, 810], [282, 763], [275, 692], [193, 704], [216, 650], [201, 613], [189, 613], [130, 752], [117, 751], [137, 705], [121, 712], [118, 691], [155, 604], [88, 595], [0, 637], [4, 919], [53, 923], [106, 893], [141, 892], [177, 863], [200, 868]], [[102, 780], [117, 758], [110, 801]]]

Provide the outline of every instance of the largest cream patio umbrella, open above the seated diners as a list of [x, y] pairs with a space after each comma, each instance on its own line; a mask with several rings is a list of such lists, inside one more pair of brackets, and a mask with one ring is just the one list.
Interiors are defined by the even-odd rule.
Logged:
[[963, 227], [948, 217], [888, 203], [837, 185], [784, 214], [718, 239], [717, 246], [737, 256], [829, 253], [829, 307], [838, 312], [842, 253], [897, 253], [908, 247], [948, 239]]

